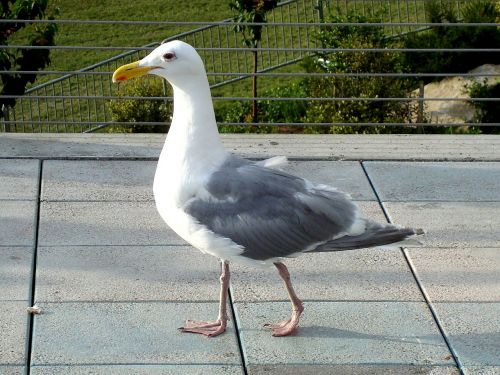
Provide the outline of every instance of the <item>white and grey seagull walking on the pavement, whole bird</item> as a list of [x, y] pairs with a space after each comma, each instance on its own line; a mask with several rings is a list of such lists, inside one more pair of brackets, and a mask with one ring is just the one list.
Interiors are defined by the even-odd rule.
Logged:
[[398, 247], [421, 229], [363, 217], [350, 196], [283, 172], [283, 158], [252, 162], [220, 139], [203, 61], [182, 41], [162, 43], [142, 60], [119, 67], [113, 82], [152, 74], [173, 88], [174, 112], [159, 156], [153, 192], [162, 219], [186, 242], [221, 261], [219, 315], [187, 320], [182, 332], [220, 335], [228, 321], [230, 262], [275, 266], [292, 304], [288, 320], [266, 324], [273, 336], [297, 331], [303, 303], [286, 258], [302, 253]]

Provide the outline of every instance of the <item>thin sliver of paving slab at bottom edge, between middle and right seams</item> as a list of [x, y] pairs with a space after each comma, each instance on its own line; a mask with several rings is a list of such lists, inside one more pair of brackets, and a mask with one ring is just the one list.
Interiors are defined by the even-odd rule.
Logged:
[[458, 375], [454, 366], [425, 365], [251, 365], [247, 367], [248, 375]]

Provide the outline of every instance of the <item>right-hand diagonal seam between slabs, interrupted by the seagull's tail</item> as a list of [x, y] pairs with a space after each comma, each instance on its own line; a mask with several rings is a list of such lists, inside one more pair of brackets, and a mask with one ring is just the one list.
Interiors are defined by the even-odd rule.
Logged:
[[[371, 160], [370, 160], [371, 161]], [[373, 190], [373, 193], [375, 194], [375, 197], [377, 198], [377, 201], [380, 205], [380, 207], [382, 208], [382, 212], [384, 213], [384, 216], [386, 218], [386, 220], [389, 222], [389, 223], [393, 223], [392, 222], [392, 219], [389, 215], [389, 212], [387, 211], [384, 203], [382, 202], [379, 194], [378, 194], [378, 191], [377, 189], [375, 188], [375, 185], [372, 181], [372, 179], [370, 178], [370, 175], [368, 174], [368, 171], [366, 170], [365, 168], [365, 165], [364, 165], [364, 161], [361, 160], [360, 162], [360, 165], [361, 165], [361, 168], [363, 169], [363, 172], [365, 173], [365, 176], [366, 178], [368, 179], [368, 183], [370, 184], [372, 190]], [[415, 282], [417, 283], [417, 286], [420, 290], [420, 293], [422, 293], [422, 296], [424, 297], [424, 300], [425, 300], [425, 303], [427, 304], [427, 307], [429, 308], [429, 311], [434, 319], [434, 322], [436, 323], [436, 326], [438, 327], [438, 330], [441, 334], [441, 336], [443, 337], [443, 340], [446, 344], [446, 346], [448, 347], [448, 350], [450, 351], [451, 355], [453, 356], [453, 360], [455, 361], [455, 364], [458, 368], [458, 371], [460, 371], [460, 374], [461, 375], [465, 375], [465, 372], [464, 372], [464, 367], [463, 367], [463, 364], [460, 360], [460, 358], [458, 357], [458, 354], [457, 352], [455, 351], [455, 349], [453, 348], [451, 342], [448, 340], [448, 335], [446, 334], [446, 331], [443, 327], [443, 325], [441, 324], [441, 321], [439, 319], [439, 315], [434, 307], [434, 304], [432, 303], [430, 297], [429, 297], [429, 294], [427, 293], [424, 285], [422, 284], [421, 280], [420, 280], [420, 277], [417, 273], [417, 270], [415, 268], [415, 265], [413, 264], [411, 258], [410, 258], [410, 255], [408, 254], [408, 251], [405, 249], [405, 248], [401, 248], [401, 252], [406, 260], [406, 263], [408, 264], [408, 267], [410, 268], [410, 271], [413, 275], [413, 278], [415, 279]]]

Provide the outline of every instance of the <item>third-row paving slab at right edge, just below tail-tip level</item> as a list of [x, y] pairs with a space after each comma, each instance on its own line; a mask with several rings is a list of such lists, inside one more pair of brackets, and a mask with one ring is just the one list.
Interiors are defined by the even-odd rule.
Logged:
[[500, 302], [500, 248], [409, 249], [435, 302]]

